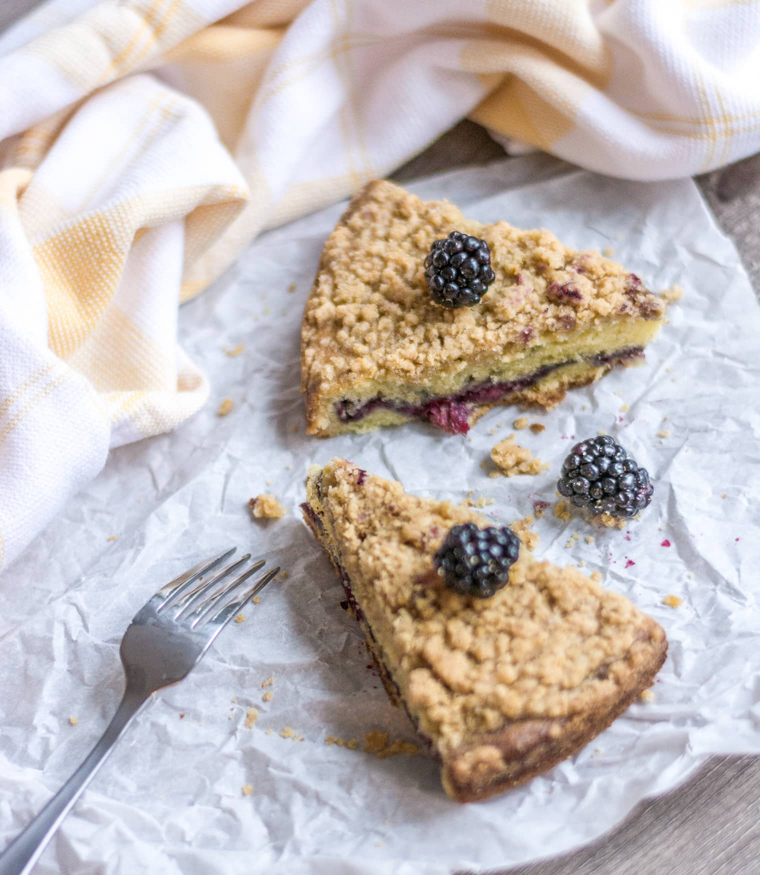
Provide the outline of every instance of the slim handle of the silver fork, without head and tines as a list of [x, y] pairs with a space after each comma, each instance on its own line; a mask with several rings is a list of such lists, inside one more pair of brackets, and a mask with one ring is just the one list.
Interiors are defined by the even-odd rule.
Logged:
[[150, 694], [128, 685], [113, 720], [101, 735], [101, 740], [87, 755], [87, 759], [38, 816], [0, 854], [0, 875], [26, 875], [31, 871], [31, 867], [45, 850], [45, 845], [52, 838], [52, 834], [59, 828], [61, 821], [73, 808], [74, 802], [79, 799], [87, 784], [93, 780], [94, 774], [103, 765], [116, 742], [121, 739], [149, 697]]

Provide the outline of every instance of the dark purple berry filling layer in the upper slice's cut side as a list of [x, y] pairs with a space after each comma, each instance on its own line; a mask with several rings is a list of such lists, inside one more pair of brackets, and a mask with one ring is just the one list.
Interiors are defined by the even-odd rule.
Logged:
[[[602, 367], [603, 365], [627, 364], [643, 358], [644, 348], [642, 346], [628, 346], [614, 353], [599, 353], [589, 356], [586, 361], [590, 365]], [[558, 361], [555, 364], [540, 367], [532, 374], [526, 374], [517, 380], [503, 382], [487, 380], [464, 389], [457, 395], [433, 397], [419, 404], [394, 401], [381, 396], [360, 403], [344, 399], [335, 405], [335, 412], [341, 422], [355, 423], [376, 410], [394, 410], [396, 413], [401, 413], [402, 416], [415, 416], [418, 419], [428, 420], [447, 434], [466, 435], [470, 430], [469, 418], [473, 408], [481, 404], [499, 402], [507, 395], [533, 386], [547, 374], [551, 374], [552, 371], [571, 364], [575, 364], [575, 361]]]

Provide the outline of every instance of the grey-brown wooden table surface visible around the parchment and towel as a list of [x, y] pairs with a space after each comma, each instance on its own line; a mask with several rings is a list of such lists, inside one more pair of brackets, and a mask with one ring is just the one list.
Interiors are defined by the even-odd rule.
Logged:
[[[0, 31], [37, 3], [38, 0], [0, 0]], [[401, 167], [393, 179], [403, 182], [503, 157], [504, 151], [485, 130], [475, 123], [462, 122], [422, 155]], [[760, 155], [707, 173], [696, 181], [724, 232], [739, 249], [757, 292], [760, 289]], [[596, 842], [579, 851], [518, 866], [508, 872], [509, 875], [757, 875], [760, 872], [760, 759], [715, 757], [673, 793], [642, 802], [624, 823]]]

